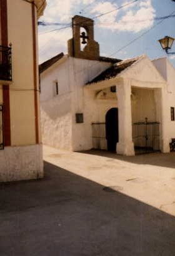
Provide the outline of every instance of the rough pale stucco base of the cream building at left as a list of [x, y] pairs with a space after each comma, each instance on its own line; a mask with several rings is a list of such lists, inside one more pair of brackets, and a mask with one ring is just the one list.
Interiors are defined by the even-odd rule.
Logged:
[[42, 146], [5, 147], [0, 151], [0, 182], [43, 178]]

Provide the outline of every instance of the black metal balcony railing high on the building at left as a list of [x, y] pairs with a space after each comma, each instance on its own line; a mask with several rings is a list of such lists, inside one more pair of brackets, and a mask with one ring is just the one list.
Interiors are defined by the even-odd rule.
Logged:
[[11, 47], [0, 45], [0, 80], [12, 80]]

